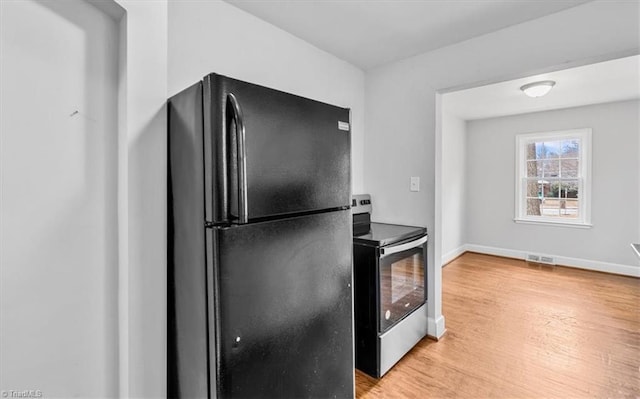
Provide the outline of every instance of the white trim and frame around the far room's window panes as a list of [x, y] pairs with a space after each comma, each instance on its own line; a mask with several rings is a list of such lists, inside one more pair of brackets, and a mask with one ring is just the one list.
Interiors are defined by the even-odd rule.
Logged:
[[[516, 167], [515, 167], [515, 217], [516, 223], [540, 224], [559, 227], [591, 228], [591, 133], [590, 128], [559, 130], [551, 132], [538, 132], [519, 134], [516, 136]], [[580, 138], [580, 219], [568, 220], [549, 216], [530, 216], [526, 213], [526, 205], [523, 200], [523, 181], [527, 176], [525, 160], [526, 144], [533, 141], [558, 141], [568, 138]]]

